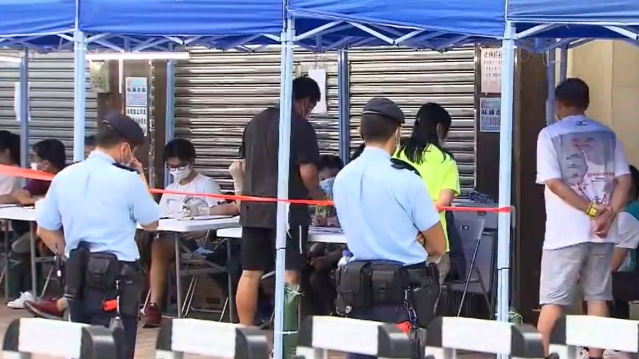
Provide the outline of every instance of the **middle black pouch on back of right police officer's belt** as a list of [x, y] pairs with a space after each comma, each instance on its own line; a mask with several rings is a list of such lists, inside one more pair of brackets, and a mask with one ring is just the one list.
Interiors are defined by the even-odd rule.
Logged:
[[402, 304], [406, 298], [408, 280], [402, 263], [372, 261], [371, 292], [374, 305]]

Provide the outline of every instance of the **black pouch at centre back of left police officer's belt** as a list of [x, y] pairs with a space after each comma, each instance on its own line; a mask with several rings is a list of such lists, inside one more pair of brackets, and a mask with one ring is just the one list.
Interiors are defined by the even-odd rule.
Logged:
[[118, 257], [111, 253], [96, 252], [89, 255], [86, 264], [86, 285], [91, 289], [115, 294], [116, 280], [119, 278]]

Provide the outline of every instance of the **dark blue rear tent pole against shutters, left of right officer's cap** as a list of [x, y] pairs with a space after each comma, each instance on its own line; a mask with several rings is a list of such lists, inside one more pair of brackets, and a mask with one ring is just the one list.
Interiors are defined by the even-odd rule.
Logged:
[[344, 164], [350, 159], [350, 68], [348, 50], [337, 50], [337, 102], [339, 103], [339, 157]]

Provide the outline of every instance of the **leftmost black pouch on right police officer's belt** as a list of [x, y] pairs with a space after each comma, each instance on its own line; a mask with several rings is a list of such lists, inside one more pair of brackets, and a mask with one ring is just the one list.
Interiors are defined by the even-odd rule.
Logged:
[[367, 261], [350, 261], [335, 271], [337, 313], [348, 315], [353, 309], [373, 305], [371, 293], [371, 266]]

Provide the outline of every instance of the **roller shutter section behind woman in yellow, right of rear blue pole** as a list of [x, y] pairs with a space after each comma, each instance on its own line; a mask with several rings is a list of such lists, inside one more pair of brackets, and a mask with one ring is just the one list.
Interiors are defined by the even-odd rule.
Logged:
[[446, 147], [459, 167], [462, 192], [475, 186], [475, 49], [435, 51], [371, 49], [350, 51], [351, 148], [361, 143], [357, 126], [373, 96], [394, 100], [406, 115], [410, 135], [419, 107], [437, 102], [452, 116]]

